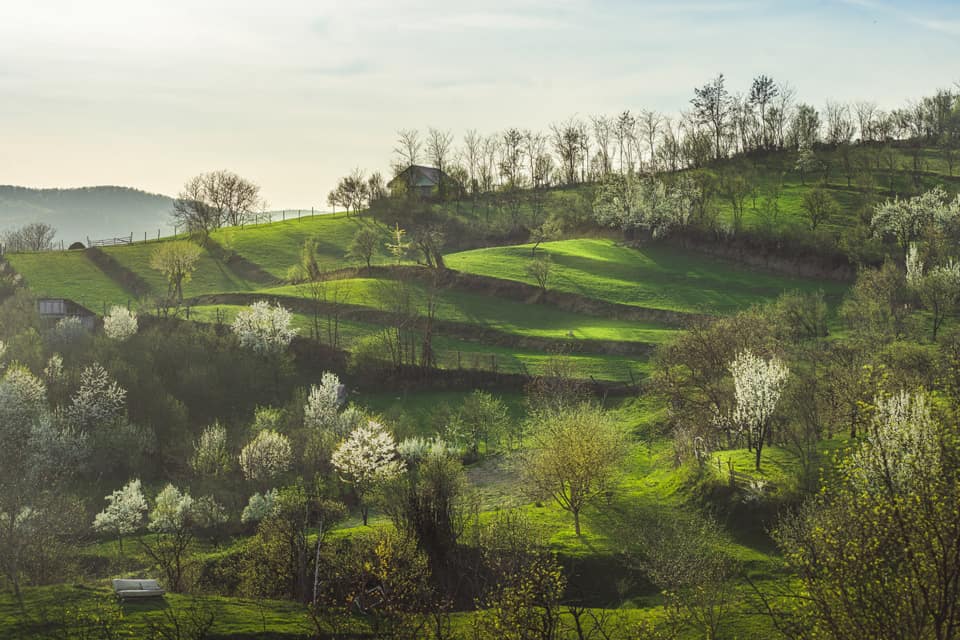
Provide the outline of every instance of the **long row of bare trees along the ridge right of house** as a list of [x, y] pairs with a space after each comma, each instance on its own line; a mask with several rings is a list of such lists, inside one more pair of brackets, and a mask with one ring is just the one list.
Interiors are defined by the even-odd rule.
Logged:
[[[723, 74], [694, 90], [677, 116], [652, 111], [573, 116], [546, 131], [508, 128], [488, 135], [401, 129], [392, 168], [441, 169], [471, 195], [600, 180], [612, 173], [676, 171], [736, 154], [817, 145], [923, 140], [960, 146], [960, 91], [941, 89], [885, 111], [876, 102], [800, 102], [787, 83], [760, 75], [732, 93]], [[440, 194], [441, 196], [445, 194]]]

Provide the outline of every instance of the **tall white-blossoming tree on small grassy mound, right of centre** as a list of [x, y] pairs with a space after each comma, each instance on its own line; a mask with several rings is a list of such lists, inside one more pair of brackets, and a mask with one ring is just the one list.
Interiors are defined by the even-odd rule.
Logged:
[[769, 437], [770, 421], [790, 371], [779, 358], [764, 360], [749, 349], [741, 351], [729, 369], [736, 399], [733, 420], [747, 432], [748, 444], [756, 452], [759, 471], [760, 454]]

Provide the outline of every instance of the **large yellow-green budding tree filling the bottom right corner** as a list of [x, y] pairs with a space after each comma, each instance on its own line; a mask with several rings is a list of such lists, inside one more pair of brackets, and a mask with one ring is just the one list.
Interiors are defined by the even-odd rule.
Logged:
[[777, 529], [801, 589], [767, 604], [790, 637], [956, 638], [960, 441], [922, 395], [874, 405], [831, 482]]

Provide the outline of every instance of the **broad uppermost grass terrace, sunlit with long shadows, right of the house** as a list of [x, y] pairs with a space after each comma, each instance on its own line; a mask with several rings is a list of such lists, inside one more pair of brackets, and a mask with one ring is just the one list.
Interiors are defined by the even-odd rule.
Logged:
[[[732, 313], [784, 291], [823, 290], [836, 300], [838, 282], [753, 271], [664, 246], [642, 249], [611, 240], [561, 240], [541, 245], [553, 262], [547, 289], [598, 300], [689, 313]], [[526, 273], [531, 245], [493, 247], [446, 257], [453, 269], [535, 284]], [[549, 294], [548, 294], [549, 295]]]

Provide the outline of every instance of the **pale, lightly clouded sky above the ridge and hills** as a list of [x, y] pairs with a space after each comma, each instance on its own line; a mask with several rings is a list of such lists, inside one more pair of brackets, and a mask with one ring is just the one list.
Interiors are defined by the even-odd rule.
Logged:
[[902, 106], [960, 82], [960, 2], [2, 0], [0, 184], [176, 195], [229, 169], [325, 208], [398, 129], [675, 114], [721, 72]]

